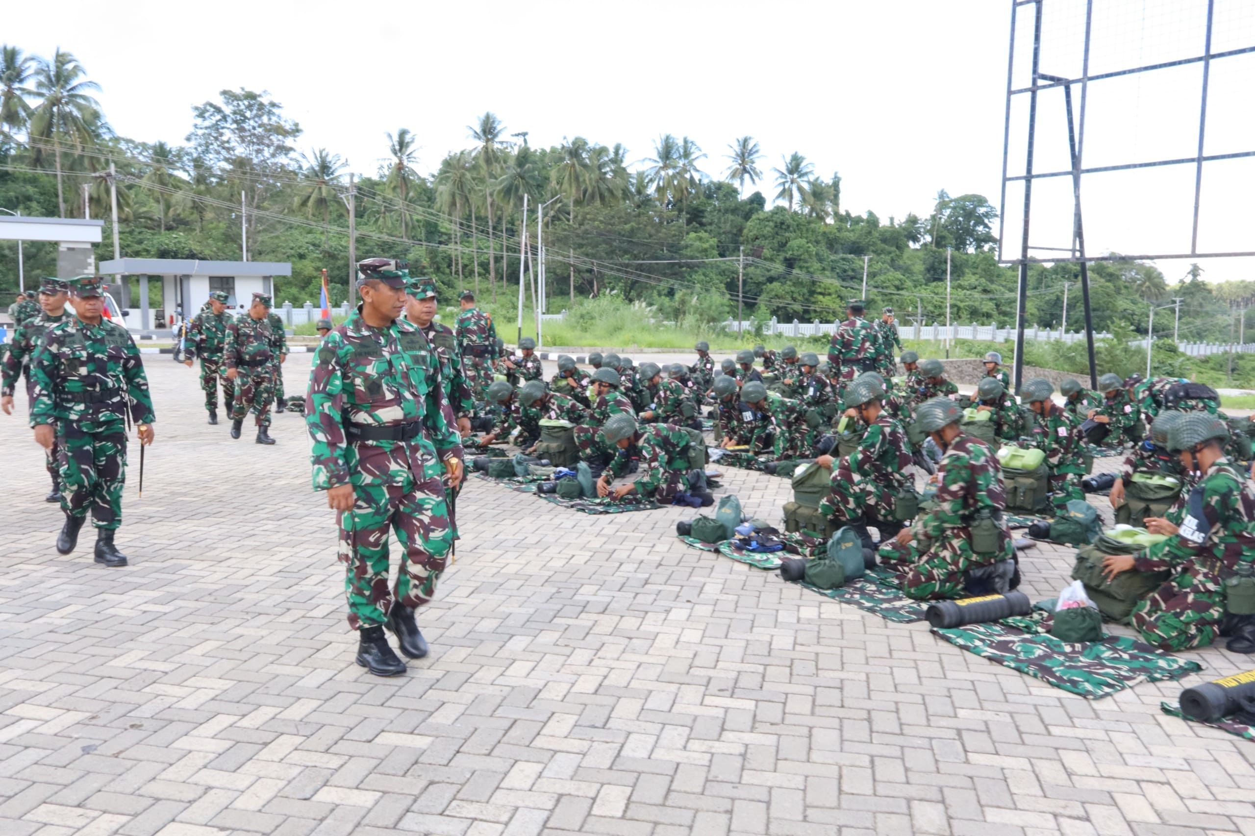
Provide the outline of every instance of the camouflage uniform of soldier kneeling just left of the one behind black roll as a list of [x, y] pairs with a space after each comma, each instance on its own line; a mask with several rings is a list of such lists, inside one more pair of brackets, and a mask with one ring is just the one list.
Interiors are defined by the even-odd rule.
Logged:
[[842, 520], [890, 521], [912, 473], [906, 431], [881, 410], [863, 431], [858, 448], [833, 462], [832, 492], [820, 502], [820, 511]]

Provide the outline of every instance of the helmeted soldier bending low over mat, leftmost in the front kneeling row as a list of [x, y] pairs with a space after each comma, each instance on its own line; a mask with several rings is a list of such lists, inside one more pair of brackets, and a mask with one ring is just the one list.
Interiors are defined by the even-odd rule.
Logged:
[[[683, 427], [640, 427], [635, 418], [621, 413], [610, 418], [597, 436], [601, 443], [619, 451], [597, 480], [597, 496], [621, 500], [636, 493], [653, 497], [660, 505], [678, 505], [689, 496], [697, 498], [698, 505], [714, 502], [705, 486], [705, 473], [689, 466], [689, 448], [697, 442]], [[639, 451], [641, 474], [635, 482], [611, 488], [615, 477], [624, 474], [631, 448]]]

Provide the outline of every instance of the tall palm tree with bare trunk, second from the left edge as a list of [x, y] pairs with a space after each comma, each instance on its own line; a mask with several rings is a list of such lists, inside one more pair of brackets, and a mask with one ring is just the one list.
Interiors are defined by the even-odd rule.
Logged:
[[[87, 94], [100, 85], [84, 78], [87, 70], [70, 53], [58, 46], [53, 60], [38, 59], [35, 92], [44, 97], [30, 117], [30, 134], [50, 139], [56, 157], [56, 206], [65, 217], [65, 188], [61, 182], [61, 138], [75, 147], [90, 142], [90, 124], [100, 121], [100, 104]], [[41, 156], [36, 147], [36, 157]]]

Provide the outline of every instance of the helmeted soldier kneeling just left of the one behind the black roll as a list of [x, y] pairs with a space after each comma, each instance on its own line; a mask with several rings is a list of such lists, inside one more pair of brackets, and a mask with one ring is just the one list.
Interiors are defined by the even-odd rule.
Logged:
[[832, 492], [820, 502], [830, 517], [843, 520], [858, 533], [863, 549], [872, 549], [868, 523], [881, 541], [897, 536], [902, 523], [894, 518], [897, 497], [914, 491], [915, 468], [906, 431], [884, 410], [885, 389], [866, 374], [846, 387], [845, 403], [866, 426], [858, 448], [836, 459], [821, 456], [816, 463], [832, 471]]

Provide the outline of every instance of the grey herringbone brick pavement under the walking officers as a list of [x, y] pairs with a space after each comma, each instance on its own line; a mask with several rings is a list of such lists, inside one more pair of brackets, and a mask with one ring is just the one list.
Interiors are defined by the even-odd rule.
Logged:
[[[146, 359], [127, 569], [92, 562], [89, 530], [55, 552], [40, 451], [0, 415], [3, 836], [1255, 832], [1255, 744], [1162, 715], [1181, 684], [1069, 695], [685, 549], [692, 511], [592, 517], [472, 481], [433, 655], [373, 678], [301, 419], [232, 442], [191, 370]], [[727, 486], [769, 517], [788, 492]], [[1069, 562], [1027, 552], [1027, 591]], [[1251, 667], [1194, 655], [1187, 683]]]

